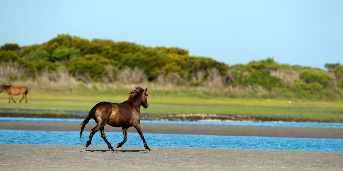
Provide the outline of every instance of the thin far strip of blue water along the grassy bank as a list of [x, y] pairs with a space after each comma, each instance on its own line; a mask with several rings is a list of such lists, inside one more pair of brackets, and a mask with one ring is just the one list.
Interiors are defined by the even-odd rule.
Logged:
[[[61, 119], [61, 118], [14, 118], [0, 117], [0, 121], [11, 122], [75, 122], [81, 123], [83, 119]], [[94, 123], [91, 119], [90, 123]], [[343, 128], [343, 123], [318, 123], [318, 122], [252, 122], [252, 121], [160, 121], [141, 120], [141, 124], [193, 124], [193, 125], [224, 125], [224, 126], [264, 126], [264, 127], [330, 127]]]

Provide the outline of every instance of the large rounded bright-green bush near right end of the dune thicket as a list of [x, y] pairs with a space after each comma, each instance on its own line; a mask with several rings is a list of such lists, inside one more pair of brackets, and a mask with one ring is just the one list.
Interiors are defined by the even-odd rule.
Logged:
[[324, 88], [331, 87], [334, 81], [334, 78], [327, 71], [323, 70], [304, 69], [301, 71], [299, 78], [303, 79], [306, 83], [319, 83]]

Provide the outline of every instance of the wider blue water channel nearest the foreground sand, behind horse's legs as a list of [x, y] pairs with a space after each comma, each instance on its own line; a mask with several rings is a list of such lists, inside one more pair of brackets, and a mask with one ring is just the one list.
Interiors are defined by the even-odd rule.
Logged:
[[[84, 133], [86, 136], [88, 136], [89, 132]], [[0, 130], [0, 143], [81, 145], [79, 134], [79, 131]], [[84, 143], [88, 140], [88, 137], [86, 136], [83, 136]], [[122, 141], [123, 134], [121, 132], [107, 132], [106, 137], [107, 140], [114, 146]], [[343, 139], [158, 133], [145, 133], [144, 137], [150, 147], [343, 151]], [[107, 146], [99, 132], [95, 133], [91, 146], [92, 145]], [[128, 139], [124, 146], [138, 146], [144, 149], [143, 142], [138, 133], [128, 133]], [[107, 149], [107, 147], [104, 148]], [[82, 148], [80, 147], [80, 149]]]

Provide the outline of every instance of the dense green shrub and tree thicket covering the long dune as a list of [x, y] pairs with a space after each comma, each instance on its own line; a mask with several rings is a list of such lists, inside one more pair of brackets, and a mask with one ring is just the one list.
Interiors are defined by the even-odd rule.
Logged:
[[[293, 92], [318, 93], [330, 91], [342, 97], [343, 66], [325, 64], [328, 69], [279, 64], [273, 58], [229, 66], [208, 57], [190, 56], [177, 47], [147, 47], [130, 42], [88, 40], [77, 36], [58, 35], [48, 42], [20, 47], [4, 44], [0, 47], [0, 62], [13, 62], [25, 69], [25, 74], [11, 79], [34, 78], [45, 71], [64, 67], [71, 76], [81, 75], [89, 81], [105, 81], [119, 70], [139, 68], [144, 79], [152, 82], [169, 77], [175, 84], [220, 88], [259, 87]], [[114, 79], [110, 79], [115, 81]]]

